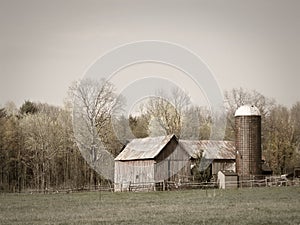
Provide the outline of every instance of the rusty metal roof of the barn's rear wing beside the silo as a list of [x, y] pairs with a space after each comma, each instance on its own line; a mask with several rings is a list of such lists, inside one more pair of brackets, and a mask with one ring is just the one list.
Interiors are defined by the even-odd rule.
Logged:
[[197, 158], [203, 152], [206, 159], [235, 159], [233, 141], [180, 140], [179, 143], [192, 158]]

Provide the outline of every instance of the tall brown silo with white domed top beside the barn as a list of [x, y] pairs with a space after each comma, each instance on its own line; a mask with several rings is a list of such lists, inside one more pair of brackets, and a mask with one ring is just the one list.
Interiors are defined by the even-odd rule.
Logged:
[[235, 112], [236, 172], [240, 180], [261, 175], [261, 115], [257, 107], [244, 105]]

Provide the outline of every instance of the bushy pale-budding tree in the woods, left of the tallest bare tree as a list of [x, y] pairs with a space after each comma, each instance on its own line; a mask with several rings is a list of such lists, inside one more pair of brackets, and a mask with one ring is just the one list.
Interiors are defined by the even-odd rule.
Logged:
[[[40, 104], [39, 112], [26, 114], [20, 125], [24, 138], [23, 158], [34, 173], [35, 186], [46, 190], [50, 186], [51, 165], [65, 150], [64, 124], [59, 120], [60, 109]], [[52, 171], [54, 173], [54, 171]]]

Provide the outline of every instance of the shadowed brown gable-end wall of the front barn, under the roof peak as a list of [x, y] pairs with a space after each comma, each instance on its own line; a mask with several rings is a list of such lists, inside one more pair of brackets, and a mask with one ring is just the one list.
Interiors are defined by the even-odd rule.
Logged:
[[154, 179], [156, 182], [188, 181], [191, 176], [191, 162], [188, 153], [172, 140], [161, 151], [154, 165]]

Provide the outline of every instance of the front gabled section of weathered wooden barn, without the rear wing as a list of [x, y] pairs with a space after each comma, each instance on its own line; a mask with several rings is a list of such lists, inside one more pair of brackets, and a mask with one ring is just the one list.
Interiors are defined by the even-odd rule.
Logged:
[[175, 135], [133, 139], [115, 158], [115, 191], [132, 184], [155, 189], [157, 183], [188, 178], [189, 159]]

